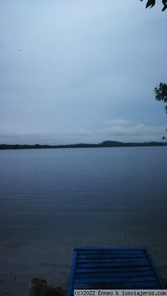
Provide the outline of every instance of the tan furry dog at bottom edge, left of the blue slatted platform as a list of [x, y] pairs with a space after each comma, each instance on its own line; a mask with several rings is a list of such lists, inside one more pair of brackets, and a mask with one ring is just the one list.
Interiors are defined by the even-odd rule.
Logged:
[[28, 285], [27, 296], [64, 296], [64, 294], [62, 287], [49, 287], [45, 280], [33, 278]]

